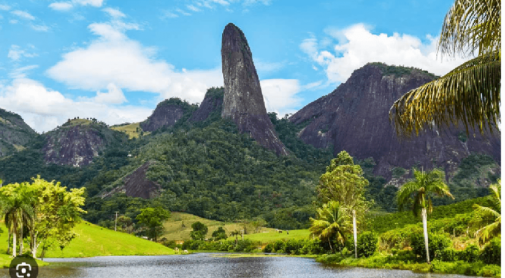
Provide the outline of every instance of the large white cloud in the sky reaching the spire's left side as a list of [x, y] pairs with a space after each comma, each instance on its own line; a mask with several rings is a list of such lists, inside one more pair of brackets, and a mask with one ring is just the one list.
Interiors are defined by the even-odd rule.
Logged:
[[156, 59], [156, 48], [126, 36], [121, 28], [127, 25], [89, 25], [98, 39], [63, 55], [47, 74], [71, 88], [103, 90], [113, 83], [124, 90], [155, 92], [160, 99], [179, 97], [193, 103], [203, 100], [207, 88], [223, 84], [221, 68], [181, 71]]

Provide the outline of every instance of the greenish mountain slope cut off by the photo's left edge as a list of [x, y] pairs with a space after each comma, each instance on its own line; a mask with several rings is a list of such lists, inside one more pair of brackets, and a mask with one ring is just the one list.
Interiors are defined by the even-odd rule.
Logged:
[[21, 116], [0, 108], [0, 157], [24, 149], [37, 136]]

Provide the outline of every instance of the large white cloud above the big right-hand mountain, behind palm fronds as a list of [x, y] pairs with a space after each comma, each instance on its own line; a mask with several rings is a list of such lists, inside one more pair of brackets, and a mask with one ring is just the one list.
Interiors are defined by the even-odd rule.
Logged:
[[[327, 32], [338, 43], [333, 49], [325, 50], [315, 37], [300, 43], [312, 61], [323, 67], [329, 82], [344, 82], [350, 74], [368, 62], [383, 62], [389, 65], [405, 65], [421, 68], [437, 75], [443, 75], [468, 59], [444, 61], [436, 58], [437, 39], [427, 36], [428, 43], [408, 34], [373, 34], [371, 27], [364, 24], [352, 25]], [[327, 44], [328, 40], [324, 40]]]

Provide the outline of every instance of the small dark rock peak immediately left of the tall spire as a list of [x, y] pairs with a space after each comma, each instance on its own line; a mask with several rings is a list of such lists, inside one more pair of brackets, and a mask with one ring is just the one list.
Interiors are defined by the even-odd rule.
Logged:
[[224, 87], [210, 88], [205, 94], [204, 100], [196, 111], [193, 112], [189, 121], [203, 122], [207, 119], [221, 117], [223, 109]]

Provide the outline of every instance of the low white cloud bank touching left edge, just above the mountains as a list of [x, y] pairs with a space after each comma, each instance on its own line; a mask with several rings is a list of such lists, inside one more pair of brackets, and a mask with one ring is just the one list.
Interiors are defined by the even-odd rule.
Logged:
[[[109, 93], [116, 94], [117, 87], [110, 86]], [[119, 90], [120, 91], [120, 90]], [[97, 94], [98, 98], [100, 95]], [[103, 96], [103, 95], [102, 95]], [[107, 98], [104, 98], [107, 99]], [[110, 98], [109, 100], [111, 100]], [[136, 106], [115, 106], [110, 102], [73, 101], [59, 91], [46, 88], [28, 78], [14, 79], [8, 86], [0, 87], [2, 108], [20, 114], [37, 132], [48, 131], [74, 117], [94, 117], [107, 124], [139, 122], [145, 120], [152, 109]]]

